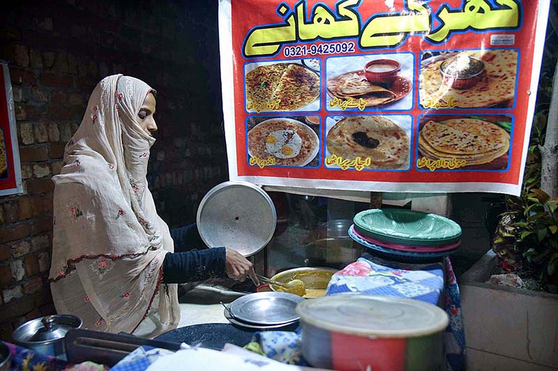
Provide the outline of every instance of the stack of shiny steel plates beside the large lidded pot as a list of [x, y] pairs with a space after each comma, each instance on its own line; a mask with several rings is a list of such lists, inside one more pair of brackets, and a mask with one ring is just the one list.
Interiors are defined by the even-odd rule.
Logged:
[[225, 318], [235, 326], [257, 331], [296, 328], [300, 317], [295, 308], [301, 301], [301, 296], [286, 292], [256, 292], [225, 307]]

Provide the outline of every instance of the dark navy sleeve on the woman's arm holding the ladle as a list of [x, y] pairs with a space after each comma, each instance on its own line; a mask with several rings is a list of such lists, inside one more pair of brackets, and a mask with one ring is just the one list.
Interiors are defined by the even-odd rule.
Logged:
[[186, 283], [223, 277], [226, 277], [225, 248], [169, 252], [163, 261], [164, 283]]

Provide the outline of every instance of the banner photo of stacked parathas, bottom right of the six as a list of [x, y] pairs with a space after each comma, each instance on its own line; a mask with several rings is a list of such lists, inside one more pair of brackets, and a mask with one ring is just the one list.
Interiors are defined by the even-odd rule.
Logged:
[[[508, 116], [423, 116], [418, 132], [418, 157], [465, 161], [458, 169], [505, 169], [511, 128]], [[491, 122], [491, 121], [493, 122]]]

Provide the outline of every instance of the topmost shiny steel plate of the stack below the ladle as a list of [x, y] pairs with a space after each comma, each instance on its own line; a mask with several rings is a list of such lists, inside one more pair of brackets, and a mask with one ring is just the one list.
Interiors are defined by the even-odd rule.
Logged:
[[287, 324], [299, 319], [294, 308], [301, 301], [301, 296], [286, 292], [256, 292], [237, 298], [229, 309], [237, 320], [250, 324]]

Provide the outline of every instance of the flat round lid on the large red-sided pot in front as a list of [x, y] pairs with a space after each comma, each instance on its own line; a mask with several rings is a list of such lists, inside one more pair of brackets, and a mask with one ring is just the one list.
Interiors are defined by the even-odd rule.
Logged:
[[437, 306], [393, 296], [323, 296], [303, 301], [296, 313], [317, 328], [372, 338], [412, 338], [448, 326], [448, 315]]

